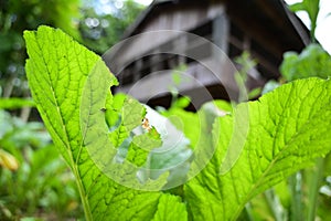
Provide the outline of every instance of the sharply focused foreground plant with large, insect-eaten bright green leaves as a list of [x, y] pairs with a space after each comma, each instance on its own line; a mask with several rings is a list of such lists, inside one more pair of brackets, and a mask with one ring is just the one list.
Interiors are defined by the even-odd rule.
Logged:
[[[151, 166], [168, 139], [153, 124], [141, 128], [149, 108], [113, 97], [117, 81], [102, 59], [61, 30], [40, 27], [24, 39], [33, 99], [74, 172], [86, 220], [235, 220], [255, 196], [331, 150], [330, 81], [296, 81], [234, 109], [222, 102], [196, 114], [172, 109], [190, 140], [175, 148], [188, 152], [188, 169], [177, 175], [182, 186], [163, 190], [175, 171]], [[141, 179], [156, 167], [160, 173]]]

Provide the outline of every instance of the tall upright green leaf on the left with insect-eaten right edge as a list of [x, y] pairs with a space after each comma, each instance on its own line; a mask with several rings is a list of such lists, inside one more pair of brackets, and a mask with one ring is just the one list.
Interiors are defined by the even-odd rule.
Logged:
[[[76, 177], [86, 219], [151, 220], [158, 208], [170, 207], [167, 203], [172, 203], [172, 196], [124, 187], [106, 176], [105, 168], [97, 166], [92, 157], [92, 151], [97, 151], [105, 141], [108, 127], [104, 108], [111, 104], [109, 87], [116, 84], [100, 57], [61, 30], [47, 27], [40, 27], [36, 32], [25, 31], [24, 39], [29, 54], [25, 69], [33, 99], [54, 144]], [[127, 126], [139, 125], [141, 117], [135, 119], [138, 122], [128, 119]], [[103, 124], [98, 125], [100, 118]], [[102, 134], [87, 133], [90, 127], [102, 129]], [[109, 151], [104, 156], [114, 157], [116, 148], [111, 141], [107, 145]], [[118, 168], [119, 172], [127, 169], [120, 165]], [[134, 176], [131, 170], [127, 172]], [[183, 211], [182, 202], [172, 207]]]

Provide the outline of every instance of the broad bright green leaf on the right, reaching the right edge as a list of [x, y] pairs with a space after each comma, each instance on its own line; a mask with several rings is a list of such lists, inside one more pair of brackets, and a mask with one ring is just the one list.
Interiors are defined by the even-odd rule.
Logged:
[[[226, 154], [242, 136], [249, 108], [249, 130], [242, 152], [228, 167]], [[235, 122], [241, 119], [241, 124]], [[210, 164], [185, 187], [193, 220], [235, 220], [246, 202], [308, 167], [331, 149], [331, 81], [300, 80], [278, 87], [260, 99], [237, 106], [233, 116], [220, 117], [220, 133]], [[211, 137], [212, 138], [212, 137]], [[236, 158], [229, 158], [236, 159]]]

